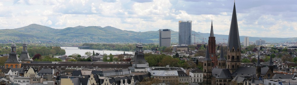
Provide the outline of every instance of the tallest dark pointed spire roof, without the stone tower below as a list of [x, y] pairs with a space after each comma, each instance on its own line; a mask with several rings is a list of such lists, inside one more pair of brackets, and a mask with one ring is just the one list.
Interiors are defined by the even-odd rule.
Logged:
[[234, 2], [234, 7], [233, 7], [233, 14], [232, 14], [232, 19], [231, 19], [229, 39], [228, 39], [228, 48], [231, 50], [232, 47], [234, 47], [235, 50], [237, 50], [237, 48], [239, 48], [239, 50], [241, 49], [239, 33], [238, 33], [235, 2]]

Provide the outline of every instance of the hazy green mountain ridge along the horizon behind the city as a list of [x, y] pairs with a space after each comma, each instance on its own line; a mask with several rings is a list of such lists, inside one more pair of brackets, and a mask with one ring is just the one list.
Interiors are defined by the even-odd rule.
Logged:
[[[201, 41], [208, 42], [209, 33], [200, 33], [192, 31], [192, 34], [199, 34], [195, 36], [196, 43]], [[141, 41], [142, 43], [158, 43], [159, 31], [135, 32], [126, 31], [111, 26], [76, 26], [64, 29], [54, 29], [43, 25], [31, 24], [21, 28], [2, 29], [0, 30], [0, 43], [8, 42], [69, 42], [69, 43], [135, 43]], [[216, 42], [228, 42], [228, 35], [214, 34]], [[240, 36], [241, 42], [244, 37]], [[266, 42], [287, 42], [297, 41], [297, 38], [261, 38], [249, 37], [249, 41], [266, 40]], [[178, 42], [178, 32], [171, 30], [171, 42]], [[192, 43], [194, 43], [194, 35], [192, 35]]]

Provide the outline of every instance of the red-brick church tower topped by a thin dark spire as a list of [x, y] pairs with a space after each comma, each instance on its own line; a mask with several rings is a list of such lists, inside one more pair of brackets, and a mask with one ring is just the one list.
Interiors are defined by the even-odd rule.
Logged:
[[208, 37], [208, 48], [209, 48], [209, 56], [211, 61], [211, 65], [213, 67], [216, 67], [218, 65], [218, 59], [216, 54], [216, 37], [214, 37], [214, 29], [212, 26], [212, 20], [211, 20], [211, 30], [210, 30], [210, 36]]

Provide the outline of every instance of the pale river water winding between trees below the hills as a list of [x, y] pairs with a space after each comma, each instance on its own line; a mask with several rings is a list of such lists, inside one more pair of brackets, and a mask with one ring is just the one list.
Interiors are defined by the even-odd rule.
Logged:
[[74, 53], [78, 53], [80, 54], [81, 56], [84, 56], [85, 55], [85, 52], [91, 52], [93, 53], [93, 50], [94, 52], [99, 52], [100, 54], [124, 54], [124, 52], [126, 54], [132, 54], [132, 52], [129, 52], [129, 51], [110, 51], [110, 50], [95, 50], [95, 49], [78, 49], [78, 47], [61, 47], [61, 49], [65, 49], [65, 52], [66, 54], [65, 55], [72, 55]]

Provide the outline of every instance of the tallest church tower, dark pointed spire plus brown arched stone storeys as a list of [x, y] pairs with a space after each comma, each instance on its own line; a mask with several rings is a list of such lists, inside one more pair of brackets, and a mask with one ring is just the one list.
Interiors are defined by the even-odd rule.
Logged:
[[235, 2], [231, 19], [227, 46], [227, 68], [233, 73], [241, 65], [241, 45], [239, 40]]

